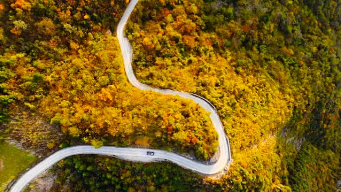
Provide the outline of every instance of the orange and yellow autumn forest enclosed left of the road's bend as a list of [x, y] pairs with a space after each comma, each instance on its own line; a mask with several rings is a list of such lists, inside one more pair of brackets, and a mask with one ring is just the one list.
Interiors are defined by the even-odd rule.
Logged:
[[[28, 137], [30, 145], [47, 151], [85, 143], [176, 149], [203, 160], [215, 153], [217, 134], [208, 113], [189, 100], [141, 91], [127, 81], [111, 34], [123, 1], [0, 5], [0, 118], [10, 122], [9, 136]], [[34, 132], [25, 123], [21, 131], [12, 129], [13, 117], [22, 113], [17, 109], [32, 120], [44, 117], [59, 131], [40, 126]], [[39, 142], [51, 130], [64, 140]]]

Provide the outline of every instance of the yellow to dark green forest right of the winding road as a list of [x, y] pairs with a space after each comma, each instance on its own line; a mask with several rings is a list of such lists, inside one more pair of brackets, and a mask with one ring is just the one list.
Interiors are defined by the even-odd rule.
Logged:
[[141, 0], [126, 35], [142, 83], [217, 107], [234, 162], [214, 183], [335, 191], [340, 24], [340, 0]]

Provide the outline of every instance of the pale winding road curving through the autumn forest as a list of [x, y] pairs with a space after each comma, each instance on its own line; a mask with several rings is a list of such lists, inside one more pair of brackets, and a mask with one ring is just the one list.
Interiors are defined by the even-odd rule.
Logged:
[[[47, 157], [46, 159], [35, 165], [33, 168], [28, 170], [13, 184], [9, 192], [21, 192], [24, 189], [24, 187], [28, 185], [34, 178], [36, 178], [39, 174], [43, 173], [45, 170], [53, 166], [58, 161], [69, 156], [80, 154], [115, 156], [121, 159], [135, 162], [153, 162], [167, 160], [185, 169], [189, 169], [205, 175], [214, 175], [224, 170], [228, 163], [231, 162], [232, 159], [228, 138], [225, 135], [224, 128], [222, 123], [220, 122], [218, 114], [210, 104], [208, 104], [204, 99], [201, 99], [200, 97], [197, 97], [195, 95], [191, 95], [184, 92], [153, 88], [148, 85], [140, 83], [136, 79], [132, 68], [133, 50], [128, 39], [124, 37], [124, 26], [128, 21], [128, 18], [137, 2], [138, 0], [132, 0], [129, 3], [117, 27], [117, 38], [120, 43], [124, 67], [130, 83], [132, 83], [135, 87], [142, 90], [150, 90], [167, 95], [178, 95], [182, 98], [191, 99], [195, 103], [199, 104], [206, 111], [208, 111], [210, 113], [212, 124], [219, 135], [218, 140], [220, 155], [217, 161], [212, 165], [206, 165], [200, 162], [187, 159], [186, 157], [183, 157], [172, 152], [155, 149], [110, 146], [95, 149], [94, 147], [88, 145], [73, 146], [55, 152], [54, 154]], [[148, 151], [154, 152], [154, 156], [147, 155]]]

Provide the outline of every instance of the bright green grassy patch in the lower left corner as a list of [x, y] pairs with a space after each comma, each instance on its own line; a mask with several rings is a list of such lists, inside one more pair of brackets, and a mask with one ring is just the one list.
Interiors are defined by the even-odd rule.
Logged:
[[0, 192], [17, 174], [25, 171], [37, 158], [0, 140]]

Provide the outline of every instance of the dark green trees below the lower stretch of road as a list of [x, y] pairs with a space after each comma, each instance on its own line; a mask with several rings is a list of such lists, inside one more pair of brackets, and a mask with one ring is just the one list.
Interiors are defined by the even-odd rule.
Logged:
[[212, 187], [205, 186], [196, 173], [167, 162], [142, 164], [76, 156], [59, 162], [55, 172], [58, 179], [50, 192], [205, 192]]

